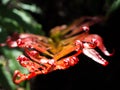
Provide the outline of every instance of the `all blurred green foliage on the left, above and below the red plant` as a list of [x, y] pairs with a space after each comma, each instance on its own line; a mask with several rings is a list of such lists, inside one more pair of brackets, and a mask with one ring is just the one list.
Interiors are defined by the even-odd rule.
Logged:
[[[29, 11], [29, 12], [28, 12]], [[35, 4], [25, 4], [19, 0], [1, 0], [0, 3], [0, 42], [5, 42], [8, 35], [14, 32], [34, 33], [43, 35], [42, 26], [39, 24], [32, 13], [41, 13], [41, 9]], [[15, 70], [27, 73], [27, 70], [19, 65], [16, 58], [22, 54], [18, 49], [8, 47], [0, 48], [0, 89], [30, 90], [29, 82], [15, 85], [12, 81]]]

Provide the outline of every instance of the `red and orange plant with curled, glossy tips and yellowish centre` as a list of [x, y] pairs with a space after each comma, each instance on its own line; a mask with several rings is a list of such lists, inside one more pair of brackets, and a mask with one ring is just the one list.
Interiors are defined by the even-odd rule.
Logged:
[[17, 58], [20, 65], [29, 70], [23, 74], [14, 72], [13, 81], [16, 84], [29, 80], [39, 74], [47, 74], [58, 69], [67, 69], [78, 63], [81, 53], [92, 60], [106, 66], [108, 62], [95, 50], [98, 47], [106, 56], [111, 56], [103, 39], [97, 34], [90, 34], [90, 26], [103, 21], [101, 17], [81, 17], [71, 25], [56, 26], [50, 31], [50, 37], [30, 33], [14, 33], [6, 43], [11, 48], [19, 47], [25, 52]]

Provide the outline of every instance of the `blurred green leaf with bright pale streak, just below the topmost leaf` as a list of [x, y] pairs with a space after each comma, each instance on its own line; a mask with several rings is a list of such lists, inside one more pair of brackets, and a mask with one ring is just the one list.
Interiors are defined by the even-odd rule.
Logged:
[[24, 10], [7, 9], [2, 5], [0, 6], [0, 27], [9, 32], [26, 31], [40, 35], [43, 34], [41, 24], [37, 23], [29, 13]]

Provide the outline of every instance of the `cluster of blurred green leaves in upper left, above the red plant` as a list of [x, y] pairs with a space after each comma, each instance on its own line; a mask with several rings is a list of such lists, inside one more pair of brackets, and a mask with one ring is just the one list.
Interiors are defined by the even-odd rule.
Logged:
[[9, 32], [25, 31], [40, 35], [44, 34], [41, 24], [32, 17], [30, 12], [42, 13], [41, 9], [34, 4], [24, 4], [19, 0], [2, 0], [0, 5], [0, 28], [9, 30]]

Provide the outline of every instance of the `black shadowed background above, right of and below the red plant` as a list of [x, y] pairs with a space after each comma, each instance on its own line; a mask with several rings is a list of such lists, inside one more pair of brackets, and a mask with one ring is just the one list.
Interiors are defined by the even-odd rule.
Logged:
[[[83, 0], [85, 4], [73, 0], [30, 0], [44, 11], [43, 15], [32, 14], [43, 25], [47, 33], [54, 26], [68, 24], [81, 16], [105, 15], [107, 7], [103, 8], [104, 0], [96, 4]], [[82, 0], [81, 0], [82, 1]], [[97, 1], [97, 0], [96, 0]], [[62, 13], [62, 14], [60, 14]], [[104, 23], [93, 27], [92, 33], [103, 37], [108, 51], [115, 50], [112, 57], [103, 57], [109, 62], [104, 67], [92, 61], [85, 55], [79, 56], [79, 63], [67, 70], [54, 71], [47, 75], [39, 75], [31, 80], [31, 90], [85, 90], [85, 89], [120, 89], [120, 44], [119, 23], [120, 8], [116, 9]]]

